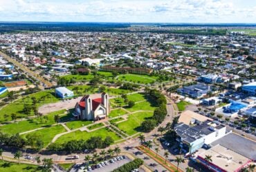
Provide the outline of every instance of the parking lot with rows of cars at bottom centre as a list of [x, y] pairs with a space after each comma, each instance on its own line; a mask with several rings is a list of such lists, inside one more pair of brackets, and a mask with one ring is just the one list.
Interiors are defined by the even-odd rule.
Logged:
[[[122, 158], [120, 158], [120, 156], [118, 157], [119, 158], [116, 157], [116, 158], [112, 158], [111, 160], [98, 162], [98, 164], [95, 164], [95, 165], [89, 165], [90, 167], [86, 166], [86, 164], [73, 166], [73, 168], [71, 169], [71, 172], [83, 172], [83, 171], [110, 172], [124, 164], [127, 164], [128, 162], [131, 162], [131, 160], [127, 158], [127, 156], [122, 156]], [[143, 169], [138, 169], [138, 171], [143, 172]]]

